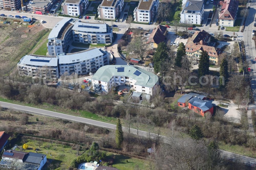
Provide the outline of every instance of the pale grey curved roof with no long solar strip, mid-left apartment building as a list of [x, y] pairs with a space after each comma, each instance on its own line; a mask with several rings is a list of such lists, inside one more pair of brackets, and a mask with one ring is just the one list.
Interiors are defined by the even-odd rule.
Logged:
[[90, 48], [88, 50], [80, 51], [77, 53], [69, 53], [66, 55], [59, 56], [59, 64], [70, 64], [81, 62], [83, 60], [88, 60], [91, 58], [103, 55], [103, 53], [96, 47]]

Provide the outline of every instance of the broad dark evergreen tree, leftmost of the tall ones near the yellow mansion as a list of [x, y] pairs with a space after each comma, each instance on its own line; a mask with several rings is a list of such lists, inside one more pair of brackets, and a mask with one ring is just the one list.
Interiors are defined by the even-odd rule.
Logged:
[[154, 71], [158, 73], [161, 69], [161, 64], [168, 58], [168, 48], [164, 42], [157, 45], [156, 52], [153, 57]]

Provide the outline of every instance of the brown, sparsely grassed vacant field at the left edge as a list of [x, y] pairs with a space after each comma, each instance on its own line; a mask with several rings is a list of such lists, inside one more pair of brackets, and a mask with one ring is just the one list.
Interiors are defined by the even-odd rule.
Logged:
[[29, 28], [31, 26], [14, 23], [10, 18], [7, 21], [11, 25], [0, 22], [0, 64], [14, 67], [49, 30], [38, 22]]

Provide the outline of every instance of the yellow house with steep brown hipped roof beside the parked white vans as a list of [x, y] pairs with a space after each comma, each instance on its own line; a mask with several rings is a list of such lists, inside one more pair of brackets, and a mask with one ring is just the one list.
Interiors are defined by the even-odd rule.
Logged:
[[164, 41], [167, 34], [167, 27], [158, 25], [150, 34], [147, 43], [150, 43], [152, 49], [157, 48], [157, 45]]

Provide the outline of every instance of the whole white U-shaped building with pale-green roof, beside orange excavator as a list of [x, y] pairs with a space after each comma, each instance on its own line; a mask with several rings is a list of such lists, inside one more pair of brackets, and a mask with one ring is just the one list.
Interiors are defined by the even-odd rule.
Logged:
[[159, 84], [158, 76], [137, 66], [107, 65], [92, 76], [94, 90], [108, 93], [112, 87], [124, 85], [136, 92], [153, 94]]

